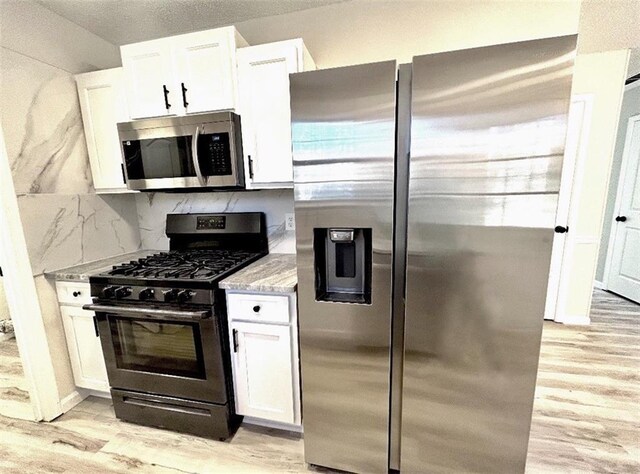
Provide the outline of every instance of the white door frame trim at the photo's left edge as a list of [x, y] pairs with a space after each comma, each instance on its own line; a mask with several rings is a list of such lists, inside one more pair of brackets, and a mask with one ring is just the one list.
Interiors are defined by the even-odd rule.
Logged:
[[1, 128], [0, 222], [3, 283], [29, 386], [33, 419], [49, 421], [62, 413], [62, 405]]

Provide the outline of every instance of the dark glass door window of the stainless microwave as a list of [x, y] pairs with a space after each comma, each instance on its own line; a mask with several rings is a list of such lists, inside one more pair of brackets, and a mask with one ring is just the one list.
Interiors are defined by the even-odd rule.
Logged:
[[122, 150], [129, 179], [196, 176], [191, 136], [126, 140]]

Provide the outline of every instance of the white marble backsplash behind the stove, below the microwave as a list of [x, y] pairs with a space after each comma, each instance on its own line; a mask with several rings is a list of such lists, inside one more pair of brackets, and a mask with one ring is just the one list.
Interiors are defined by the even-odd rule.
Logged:
[[295, 253], [295, 231], [285, 230], [285, 214], [293, 212], [293, 190], [208, 193], [140, 193], [136, 195], [142, 247], [167, 249], [165, 221], [171, 213], [264, 212], [269, 252]]

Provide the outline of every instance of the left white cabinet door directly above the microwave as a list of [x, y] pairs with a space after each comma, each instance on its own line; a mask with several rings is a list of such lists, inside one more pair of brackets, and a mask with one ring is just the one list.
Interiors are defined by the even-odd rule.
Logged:
[[176, 114], [182, 101], [174, 84], [170, 41], [129, 44], [120, 51], [131, 118]]

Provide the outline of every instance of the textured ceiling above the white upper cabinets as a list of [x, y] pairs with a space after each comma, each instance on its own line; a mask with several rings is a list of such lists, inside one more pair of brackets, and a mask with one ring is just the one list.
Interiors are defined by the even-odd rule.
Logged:
[[345, 0], [37, 0], [115, 45], [216, 28]]

